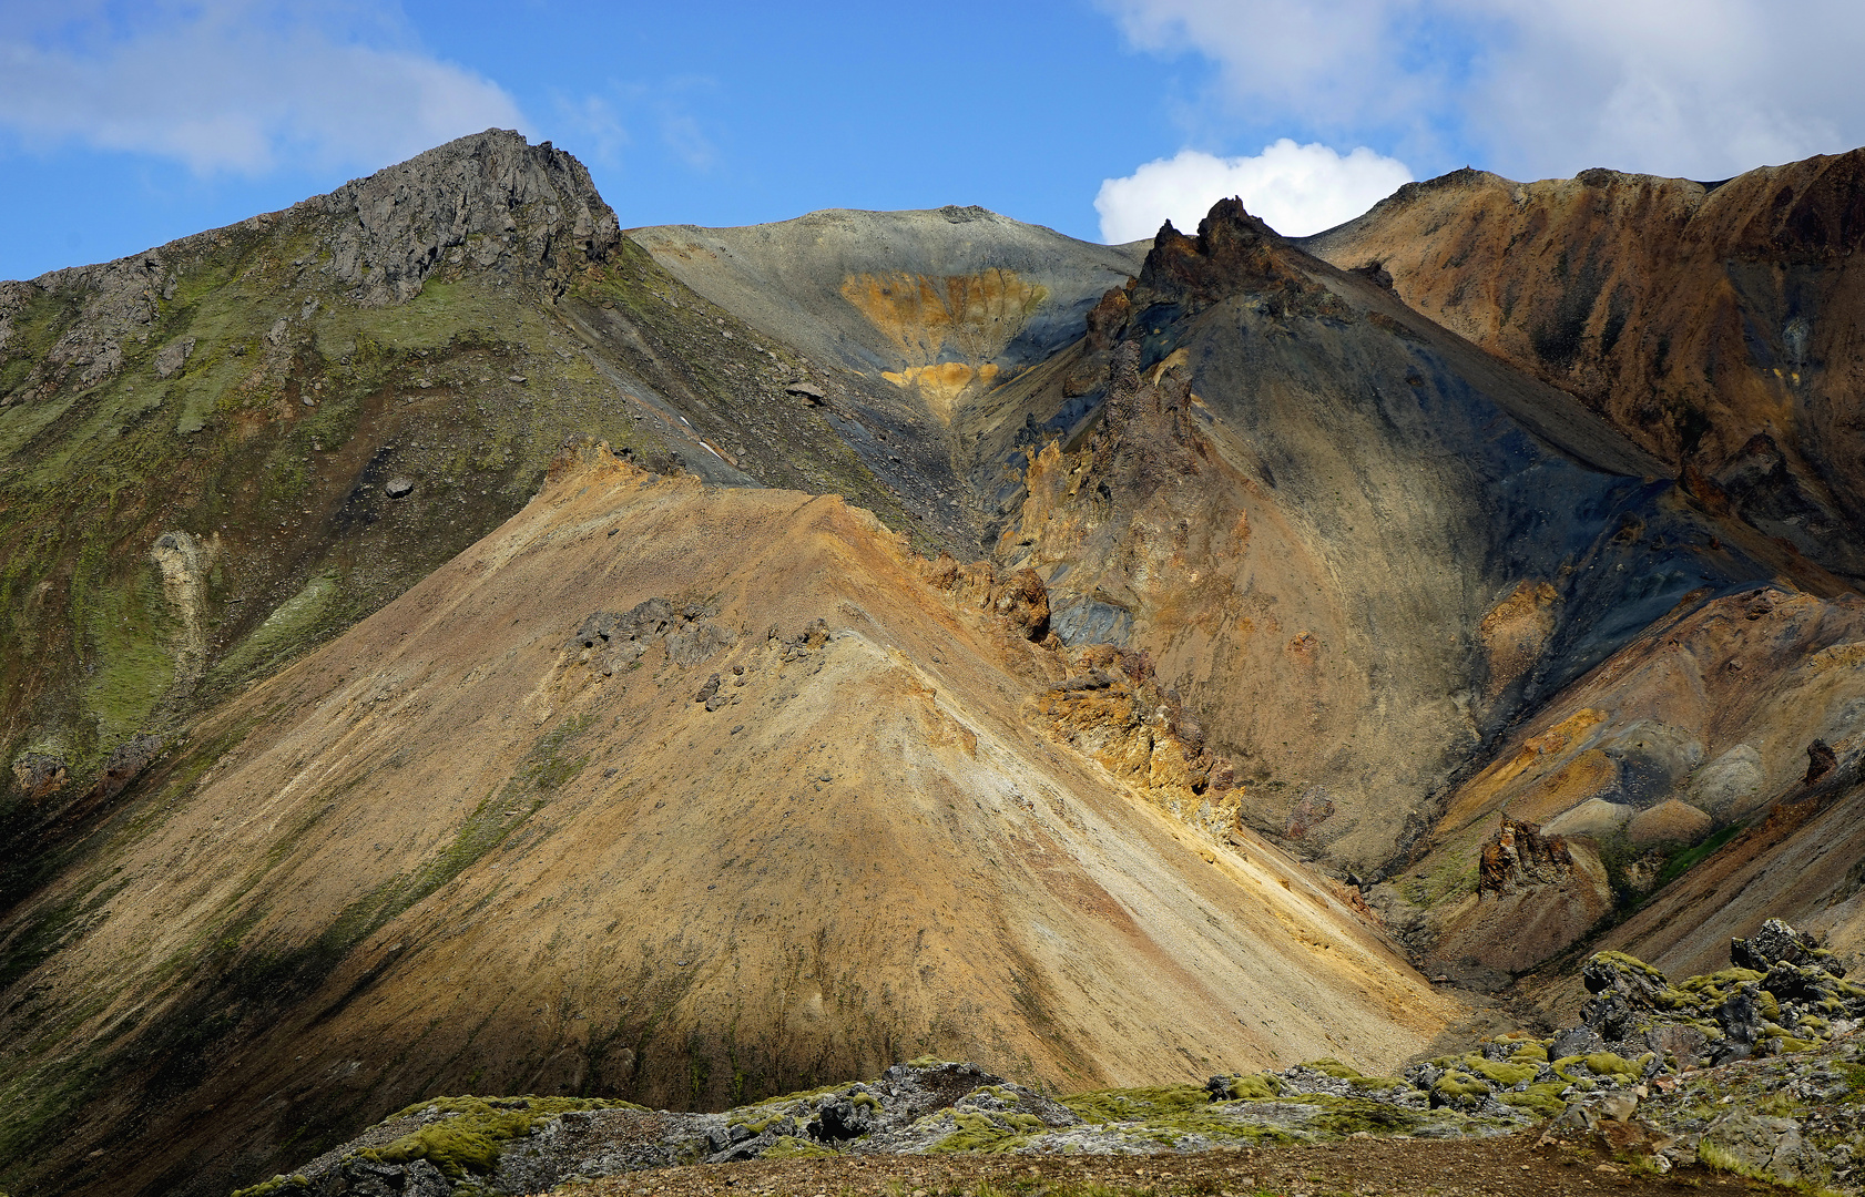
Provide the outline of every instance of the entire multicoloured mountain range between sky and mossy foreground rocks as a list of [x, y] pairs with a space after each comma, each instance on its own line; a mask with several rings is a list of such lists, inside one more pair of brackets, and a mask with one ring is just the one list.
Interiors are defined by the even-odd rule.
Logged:
[[489, 131], [4, 283], [0, 1184], [1856, 951], [1841, 162], [1093, 246], [623, 231]]

